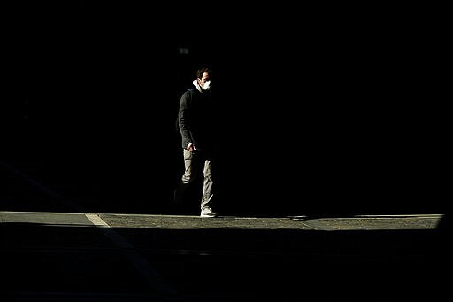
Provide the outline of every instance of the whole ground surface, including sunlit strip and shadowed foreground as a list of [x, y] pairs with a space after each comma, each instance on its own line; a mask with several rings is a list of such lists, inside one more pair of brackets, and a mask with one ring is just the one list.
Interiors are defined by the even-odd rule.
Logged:
[[71, 190], [2, 168], [2, 301], [399, 302], [448, 292], [443, 213], [83, 212]]

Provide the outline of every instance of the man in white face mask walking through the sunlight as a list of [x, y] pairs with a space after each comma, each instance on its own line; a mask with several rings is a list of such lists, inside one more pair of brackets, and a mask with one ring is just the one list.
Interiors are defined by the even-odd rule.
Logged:
[[217, 213], [212, 210], [212, 203], [219, 149], [219, 116], [212, 97], [211, 70], [207, 67], [197, 70], [192, 84], [180, 97], [178, 127], [183, 149], [184, 173], [180, 186], [174, 192], [174, 201], [180, 203], [180, 200], [176, 199], [187, 199], [188, 189], [196, 188], [196, 183], [203, 181], [200, 216], [215, 217]]

